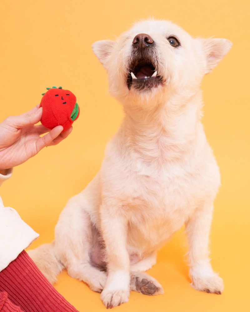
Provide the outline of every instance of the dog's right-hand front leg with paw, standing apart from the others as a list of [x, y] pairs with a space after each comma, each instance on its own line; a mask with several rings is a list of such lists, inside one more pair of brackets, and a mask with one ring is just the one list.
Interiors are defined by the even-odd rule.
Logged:
[[205, 203], [197, 207], [186, 222], [189, 242], [189, 274], [194, 289], [221, 294], [223, 290], [222, 278], [212, 269], [209, 259], [209, 232], [212, 221], [212, 203]]

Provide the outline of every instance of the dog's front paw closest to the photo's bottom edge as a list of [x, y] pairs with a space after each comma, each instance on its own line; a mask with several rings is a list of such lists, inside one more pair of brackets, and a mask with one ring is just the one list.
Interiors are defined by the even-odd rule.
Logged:
[[112, 309], [124, 302], [128, 302], [129, 290], [103, 290], [101, 300], [107, 309]]

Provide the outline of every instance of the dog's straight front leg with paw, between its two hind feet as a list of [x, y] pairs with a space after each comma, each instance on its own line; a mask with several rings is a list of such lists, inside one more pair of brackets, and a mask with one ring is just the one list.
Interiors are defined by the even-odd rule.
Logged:
[[105, 204], [101, 208], [101, 229], [108, 261], [108, 279], [101, 300], [107, 309], [127, 302], [130, 291], [127, 220], [121, 209]]

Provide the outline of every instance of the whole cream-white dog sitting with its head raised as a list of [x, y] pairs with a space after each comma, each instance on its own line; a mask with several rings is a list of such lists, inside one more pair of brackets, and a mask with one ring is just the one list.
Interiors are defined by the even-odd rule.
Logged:
[[231, 46], [157, 20], [93, 44], [125, 117], [100, 172], [61, 213], [55, 241], [30, 252], [51, 282], [65, 268], [101, 292], [107, 308], [127, 302], [131, 289], [163, 293], [144, 271], [185, 223], [192, 287], [221, 294], [208, 251], [220, 174], [201, 124], [199, 86]]

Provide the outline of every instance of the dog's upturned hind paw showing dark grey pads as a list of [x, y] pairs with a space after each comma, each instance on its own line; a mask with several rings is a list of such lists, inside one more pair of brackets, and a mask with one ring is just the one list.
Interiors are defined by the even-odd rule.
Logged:
[[164, 293], [161, 284], [144, 272], [131, 272], [130, 289], [143, 295], [160, 295]]

